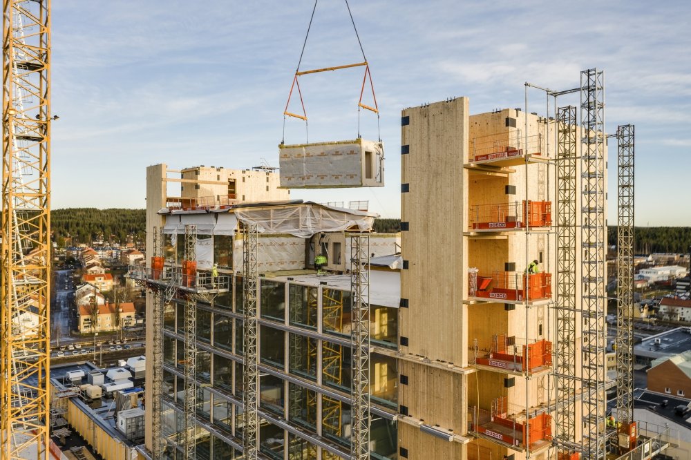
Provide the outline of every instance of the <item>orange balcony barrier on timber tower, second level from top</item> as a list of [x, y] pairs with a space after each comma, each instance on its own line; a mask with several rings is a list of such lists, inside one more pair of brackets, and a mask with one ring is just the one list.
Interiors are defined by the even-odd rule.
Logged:
[[476, 204], [471, 207], [470, 227], [473, 230], [510, 230], [526, 227], [550, 227], [552, 202], [531, 201]]

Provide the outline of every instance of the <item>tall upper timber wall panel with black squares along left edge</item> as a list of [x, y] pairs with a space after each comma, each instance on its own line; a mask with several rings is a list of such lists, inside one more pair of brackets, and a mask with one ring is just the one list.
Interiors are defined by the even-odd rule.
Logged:
[[401, 298], [409, 307], [399, 314], [400, 336], [408, 338], [401, 350], [464, 366], [468, 99], [402, 115], [402, 152], [408, 153], [401, 155], [401, 221], [409, 230], [401, 232]]

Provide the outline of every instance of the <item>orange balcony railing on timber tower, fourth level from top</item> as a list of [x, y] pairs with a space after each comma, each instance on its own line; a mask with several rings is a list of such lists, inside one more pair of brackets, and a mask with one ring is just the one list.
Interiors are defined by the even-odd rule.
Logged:
[[491, 340], [473, 339], [471, 364], [498, 370], [534, 372], [548, 370], [552, 363], [552, 343], [495, 334]]

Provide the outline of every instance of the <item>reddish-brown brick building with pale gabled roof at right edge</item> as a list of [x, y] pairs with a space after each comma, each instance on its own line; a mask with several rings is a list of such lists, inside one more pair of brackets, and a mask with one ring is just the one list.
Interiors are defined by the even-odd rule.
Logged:
[[647, 386], [658, 393], [691, 396], [691, 350], [654, 360], [647, 370]]

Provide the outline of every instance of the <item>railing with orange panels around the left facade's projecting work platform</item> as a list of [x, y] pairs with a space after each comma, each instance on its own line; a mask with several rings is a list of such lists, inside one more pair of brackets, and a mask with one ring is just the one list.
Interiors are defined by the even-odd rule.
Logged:
[[196, 265], [189, 264], [187, 260], [183, 261], [182, 266], [144, 267], [143, 265], [130, 265], [127, 267], [127, 276], [133, 280], [160, 285], [168, 285], [174, 282], [180, 289], [198, 293], [229, 291], [231, 285], [230, 276], [214, 276], [211, 271], [197, 270], [193, 267], [196, 267]]

